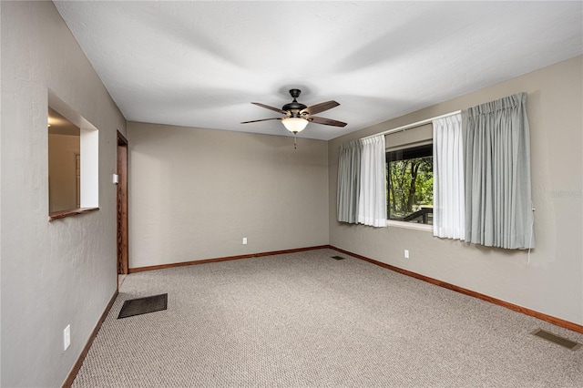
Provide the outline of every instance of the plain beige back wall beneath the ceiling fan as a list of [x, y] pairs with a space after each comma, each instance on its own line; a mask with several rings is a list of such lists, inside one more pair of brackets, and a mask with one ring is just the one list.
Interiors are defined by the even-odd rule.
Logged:
[[130, 268], [328, 244], [327, 142], [132, 122], [128, 141]]

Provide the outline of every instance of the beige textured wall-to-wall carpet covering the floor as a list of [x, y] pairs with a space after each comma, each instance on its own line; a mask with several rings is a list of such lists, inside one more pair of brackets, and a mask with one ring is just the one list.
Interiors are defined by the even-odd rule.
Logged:
[[583, 387], [583, 349], [530, 332], [582, 334], [338, 254], [131, 274], [74, 386]]

